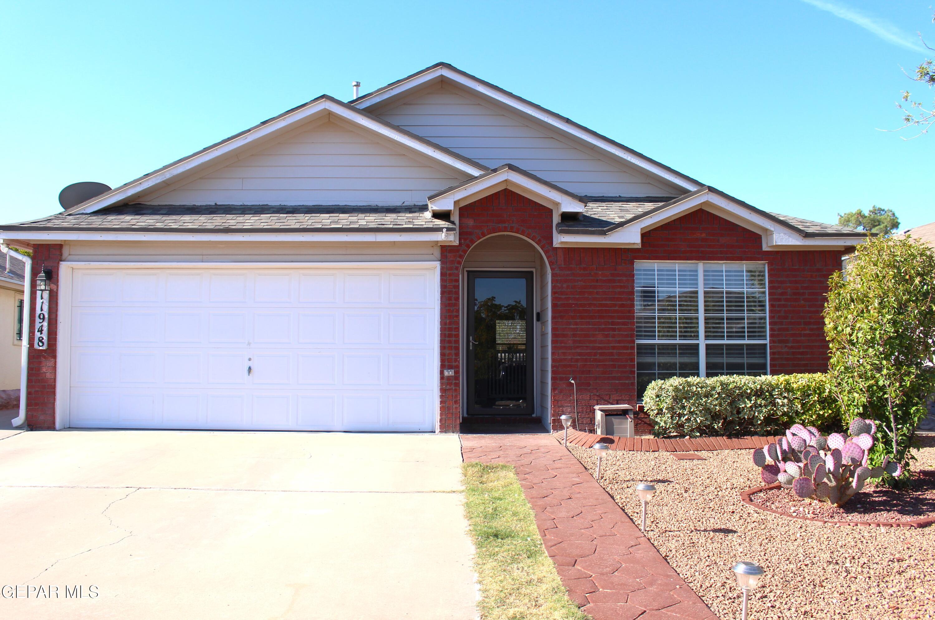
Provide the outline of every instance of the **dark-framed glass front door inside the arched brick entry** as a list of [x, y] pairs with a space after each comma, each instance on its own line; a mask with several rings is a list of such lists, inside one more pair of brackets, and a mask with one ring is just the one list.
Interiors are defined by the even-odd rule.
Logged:
[[468, 272], [468, 416], [533, 415], [531, 272]]

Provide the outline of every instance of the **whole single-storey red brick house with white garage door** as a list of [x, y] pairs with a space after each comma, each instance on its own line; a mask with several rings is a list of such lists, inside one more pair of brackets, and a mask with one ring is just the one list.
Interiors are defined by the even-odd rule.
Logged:
[[559, 428], [569, 378], [588, 428], [658, 377], [824, 371], [863, 238], [447, 63], [0, 235], [52, 274], [34, 428], [442, 432]]

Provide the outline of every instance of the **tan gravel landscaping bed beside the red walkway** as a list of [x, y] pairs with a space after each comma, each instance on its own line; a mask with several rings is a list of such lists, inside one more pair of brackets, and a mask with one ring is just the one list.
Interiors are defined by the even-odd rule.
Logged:
[[[935, 442], [926, 441], [915, 470], [935, 470]], [[568, 448], [593, 474], [594, 450]], [[741, 491], [763, 486], [749, 452], [679, 460], [665, 452], [613, 451], [601, 465], [600, 482], [638, 523], [633, 486], [655, 484], [646, 534], [722, 618], [740, 617], [741, 593], [730, 566], [741, 559], [766, 571], [751, 597], [752, 619], [935, 617], [935, 526], [856, 528], [747, 506]]]

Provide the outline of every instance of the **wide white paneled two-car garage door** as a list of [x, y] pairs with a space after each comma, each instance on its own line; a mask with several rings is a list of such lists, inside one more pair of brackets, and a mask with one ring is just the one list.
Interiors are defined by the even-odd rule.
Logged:
[[434, 269], [75, 267], [69, 424], [435, 429]]

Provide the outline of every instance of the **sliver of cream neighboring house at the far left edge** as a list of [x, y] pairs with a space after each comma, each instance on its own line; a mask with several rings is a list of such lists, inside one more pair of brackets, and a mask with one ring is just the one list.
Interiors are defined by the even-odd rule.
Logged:
[[7, 390], [20, 389], [22, 362], [22, 281], [25, 263], [0, 254], [0, 409], [8, 408]]

